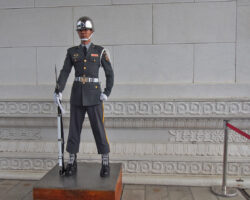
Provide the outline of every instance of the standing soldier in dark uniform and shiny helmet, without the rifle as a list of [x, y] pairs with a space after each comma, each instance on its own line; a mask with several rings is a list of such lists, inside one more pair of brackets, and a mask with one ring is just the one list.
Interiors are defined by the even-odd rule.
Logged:
[[[62, 99], [62, 91], [65, 88], [72, 66], [74, 66], [75, 79], [70, 97], [70, 125], [66, 147], [69, 152], [69, 161], [65, 175], [72, 176], [76, 173], [80, 134], [87, 112], [98, 154], [102, 154], [100, 176], [107, 177], [110, 174], [110, 148], [104, 128], [103, 101], [106, 101], [111, 93], [114, 73], [104, 48], [91, 43], [91, 36], [94, 32], [93, 21], [89, 17], [81, 17], [77, 21], [76, 31], [81, 39], [81, 44], [67, 50], [64, 65], [57, 82], [59, 93], [54, 94], [55, 102]], [[106, 88], [103, 92], [98, 78], [100, 66], [103, 67], [106, 76]]]

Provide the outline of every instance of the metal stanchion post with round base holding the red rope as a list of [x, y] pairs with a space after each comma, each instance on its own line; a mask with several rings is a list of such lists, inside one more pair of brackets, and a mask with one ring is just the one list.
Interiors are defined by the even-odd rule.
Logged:
[[224, 155], [223, 155], [223, 179], [222, 186], [212, 186], [211, 190], [214, 194], [223, 197], [234, 197], [237, 195], [235, 188], [227, 187], [227, 148], [228, 148], [228, 128], [227, 120], [224, 120]]

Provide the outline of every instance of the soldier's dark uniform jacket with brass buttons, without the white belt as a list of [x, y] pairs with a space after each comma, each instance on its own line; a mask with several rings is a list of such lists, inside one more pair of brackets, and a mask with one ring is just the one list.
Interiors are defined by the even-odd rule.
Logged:
[[[69, 48], [57, 82], [59, 92], [64, 90], [72, 66], [75, 68], [75, 77], [89, 78], [99, 78], [99, 68], [102, 66], [106, 76], [106, 88], [103, 93], [109, 96], [114, 83], [114, 72], [108, 55], [103, 49], [91, 43], [85, 57], [81, 45]], [[100, 83], [74, 81], [70, 103], [83, 106], [97, 105], [101, 103], [101, 92]]]

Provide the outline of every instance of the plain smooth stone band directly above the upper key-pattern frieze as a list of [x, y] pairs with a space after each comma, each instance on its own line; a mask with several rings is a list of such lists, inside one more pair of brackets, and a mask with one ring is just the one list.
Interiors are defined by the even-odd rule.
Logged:
[[[54, 64], [53, 64], [54, 65]], [[50, 65], [51, 66], [51, 65]], [[72, 84], [63, 91], [63, 101], [70, 98]], [[53, 101], [54, 84], [0, 85], [1, 101]], [[249, 101], [250, 82], [224, 84], [158, 83], [130, 84], [117, 82], [109, 101]], [[149, 95], [150, 92], [150, 95]]]

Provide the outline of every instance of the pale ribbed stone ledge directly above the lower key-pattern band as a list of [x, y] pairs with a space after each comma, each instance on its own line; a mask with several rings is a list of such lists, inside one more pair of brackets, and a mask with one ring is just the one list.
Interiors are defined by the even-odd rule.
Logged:
[[[211, 159], [223, 155], [222, 144], [190, 144], [190, 143], [110, 143], [111, 156], [130, 156], [135, 159], [143, 159], [141, 156], [149, 156], [151, 159], [162, 156], [167, 157], [183, 157], [182, 159], [192, 160], [193, 156], [205, 157]], [[0, 156], [7, 154], [8, 157], [13, 155], [35, 155], [46, 158], [48, 155], [57, 156], [58, 144], [57, 142], [37, 142], [37, 141], [1, 141], [0, 142]], [[44, 154], [44, 155], [43, 155]], [[80, 155], [97, 155], [96, 145], [94, 143], [81, 143], [79, 149]], [[230, 144], [228, 149], [229, 160], [230, 157], [234, 159], [246, 160], [250, 158], [249, 143]], [[5, 155], [4, 155], [5, 156]], [[188, 158], [187, 158], [188, 157]], [[195, 159], [196, 160], [196, 159]]]

